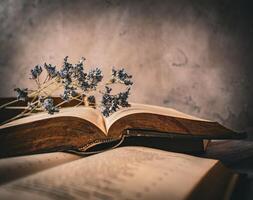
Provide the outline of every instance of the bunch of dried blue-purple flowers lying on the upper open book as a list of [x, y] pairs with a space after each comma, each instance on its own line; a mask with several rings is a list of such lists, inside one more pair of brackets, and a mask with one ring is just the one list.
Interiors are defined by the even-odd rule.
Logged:
[[[112, 68], [111, 78], [105, 83], [104, 89], [101, 87], [101, 82], [104, 75], [99, 67], [91, 69], [88, 72], [84, 70], [85, 58], [81, 58], [77, 64], [68, 62], [68, 56], [64, 58], [62, 67], [57, 70], [57, 67], [52, 64], [44, 63], [44, 66], [36, 65], [30, 71], [30, 79], [34, 80], [37, 89], [28, 90], [28, 88], [15, 88], [17, 100], [8, 102], [0, 106], [0, 109], [11, 105], [17, 101], [26, 101], [26, 109], [19, 115], [10, 119], [14, 120], [19, 117], [27, 116], [33, 112], [47, 111], [49, 114], [54, 114], [60, 111], [62, 104], [76, 100], [75, 106], [85, 105], [94, 108], [99, 108], [105, 117], [114, 113], [121, 107], [128, 107], [128, 97], [132, 82], [132, 76], [127, 74], [124, 68], [116, 70]], [[43, 70], [45, 69], [45, 70]], [[44, 81], [40, 81], [41, 75], [46, 72]], [[112, 94], [112, 84], [122, 84], [126, 86], [126, 90], [118, 94]], [[52, 96], [57, 91], [62, 91], [60, 94], [61, 103], [54, 105]], [[98, 91], [102, 94], [101, 101], [97, 101], [94, 92]], [[92, 94], [91, 94], [92, 93]], [[29, 101], [29, 99], [32, 99]]]

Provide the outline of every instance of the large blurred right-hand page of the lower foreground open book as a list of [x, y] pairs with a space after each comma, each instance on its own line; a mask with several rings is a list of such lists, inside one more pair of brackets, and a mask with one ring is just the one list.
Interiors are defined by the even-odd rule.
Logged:
[[0, 199], [186, 199], [217, 160], [122, 147], [0, 188]]

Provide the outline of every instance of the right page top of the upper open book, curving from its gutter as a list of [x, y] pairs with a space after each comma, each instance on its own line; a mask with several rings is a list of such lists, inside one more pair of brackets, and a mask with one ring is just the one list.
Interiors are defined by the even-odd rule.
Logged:
[[152, 114], [185, 118], [185, 119], [191, 119], [191, 120], [209, 121], [206, 119], [201, 119], [198, 117], [187, 115], [185, 113], [182, 113], [172, 108], [153, 106], [153, 105], [147, 105], [147, 104], [131, 103], [131, 107], [122, 108], [119, 111], [113, 113], [110, 117], [106, 118], [105, 120], [106, 129], [109, 130], [110, 126], [114, 122], [116, 122], [118, 119], [125, 117], [127, 115], [136, 114], [136, 113], [152, 113]]

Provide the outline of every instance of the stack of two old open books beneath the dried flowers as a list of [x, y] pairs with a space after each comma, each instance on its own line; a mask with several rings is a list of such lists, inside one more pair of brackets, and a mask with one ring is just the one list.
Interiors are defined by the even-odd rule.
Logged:
[[196, 155], [210, 140], [245, 137], [144, 104], [107, 118], [84, 106], [37, 113], [0, 126], [0, 198], [229, 199], [240, 174]]

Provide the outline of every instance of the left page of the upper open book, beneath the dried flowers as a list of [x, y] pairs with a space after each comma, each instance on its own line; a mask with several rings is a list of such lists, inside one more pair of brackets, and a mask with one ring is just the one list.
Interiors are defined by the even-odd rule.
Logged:
[[55, 113], [53, 115], [48, 114], [47, 112], [37, 113], [28, 117], [24, 117], [7, 124], [0, 126], [0, 129], [10, 127], [10, 126], [17, 126], [20, 124], [26, 124], [34, 121], [56, 118], [56, 117], [77, 117], [81, 119], [85, 119], [99, 129], [101, 129], [104, 133], [106, 133], [105, 125], [104, 125], [104, 118], [101, 115], [99, 110], [90, 108], [90, 107], [71, 107], [71, 108], [61, 108], [59, 113]]

